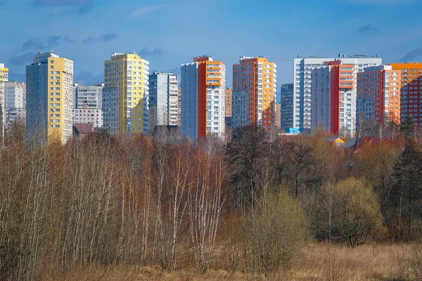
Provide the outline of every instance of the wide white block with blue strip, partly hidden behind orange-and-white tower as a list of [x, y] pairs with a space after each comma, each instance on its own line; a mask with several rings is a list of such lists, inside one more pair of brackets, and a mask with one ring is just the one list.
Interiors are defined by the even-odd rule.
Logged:
[[[311, 110], [312, 110], [312, 79], [311, 73], [315, 67], [323, 67], [327, 61], [335, 58], [316, 58], [316, 57], [298, 57], [294, 59], [293, 67], [293, 127], [300, 129], [311, 128]], [[369, 55], [338, 55], [338, 60], [346, 65], [354, 65], [354, 71], [359, 72], [364, 67], [376, 66], [382, 64], [382, 59], [378, 55], [371, 57]]]

